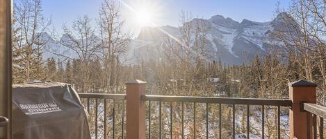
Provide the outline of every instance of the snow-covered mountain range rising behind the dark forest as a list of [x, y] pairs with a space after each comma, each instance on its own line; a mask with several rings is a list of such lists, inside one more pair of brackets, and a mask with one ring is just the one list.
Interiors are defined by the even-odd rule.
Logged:
[[[204, 23], [206, 28], [209, 28], [205, 37], [206, 46], [204, 48], [209, 55], [208, 60], [221, 59], [227, 64], [242, 64], [243, 62], [251, 62], [256, 55], [266, 55], [267, 50], [271, 48], [270, 46], [282, 45], [272, 36], [277, 33], [277, 30], [284, 28], [282, 23], [284, 16], [288, 15], [281, 13], [268, 22], [256, 22], [247, 19], [238, 22], [229, 17], [215, 15], [210, 19], [193, 19], [188, 24], [195, 24], [200, 21]], [[122, 57], [131, 63], [148, 59], [164, 59], [166, 53], [170, 53], [164, 49], [166, 40], [168, 38], [181, 39], [181, 28], [183, 27], [142, 28], [138, 37], [131, 40], [127, 55]], [[65, 41], [66, 38], [63, 35], [59, 41]], [[193, 49], [193, 51], [196, 50]], [[47, 57], [65, 59], [60, 55], [76, 58], [73, 50], [62, 46], [51, 38], [47, 42], [43, 55], [44, 59]]]

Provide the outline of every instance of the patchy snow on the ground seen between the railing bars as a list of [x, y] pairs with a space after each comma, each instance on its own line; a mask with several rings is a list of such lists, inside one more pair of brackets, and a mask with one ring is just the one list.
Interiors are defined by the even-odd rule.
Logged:
[[[95, 103], [94, 102], [91, 102], [90, 103], [90, 108], [94, 108], [95, 106]], [[152, 106], [155, 106], [155, 111], [152, 112], [152, 121], [154, 121], [155, 119], [157, 120], [157, 116], [158, 116], [158, 111], [159, 111], [159, 107], [157, 104], [153, 104]], [[204, 113], [199, 113], [199, 111], [202, 111], [204, 112], [206, 110], [206, 106], [205, 104], [197, 104], [197, 115], [199, 114], [204, 114]], [[236, 138], [237, 139], [245, 139], [247, 138], [247, 121], [245, 121], [245, 131], [242, 132], [241, 131], [241, 128], [242, 128], [242, 120], [247, 120], [247, 114], [245, 113], [243, 115], [243, 109], [244, 111], [247, 111], [245, 107], [241, 108], [241, 106], [236, 106], [236, 118], [235, 118], [235, 121], [236, 121]], [[274, 113], [274, 109], [270, 109], [268, 108], [268, 106], [266, 106], [266, 110], [267, 112], [265, 113], [265, 116], [271, 116], [271, 115], [275, 115], [276, 113]], [[283, 110], [283, 109], [282, 109]], [[99, 106], [98, 106], [98, 119], [97, 119], [97, 122], [98, 122], [98, 138], [103, 138], [103, 135], [104, 135], [104, 131], [102, 130], [103, 127], [104, 127], [104, 104], [103, 102], [99, 102]], [[120, 113], [121, 111], [117, 110], [116, 111], [117, 113]], [[162, 104], [162, 114], [165, 113], [165, 117], [162, 118], [162, 122], [164, 123], [169, 123], [170, 122], [170, 107], [165, 105], [165, 104]], [[190, 110], [186, 110], [185, 109], [185, 120], [190, 120], [190, 122], [188, 121], [188, 123], [185, 123], [185, 124], [193, 124], [192, 122], [192, 118], [193, 118], [193, 111], [190, 111]], [[189, 115], [189, 116], [186, 116], [186, 115]], [[255, 106], [250, 106], [250, 138], [254, 138], [254, 139], [258, 139], [258, 138], [261, 138], [261, 129], [262, 129], [262, 118], [261, 118], [261, 111], [259, 109], [256, 109]], [[230, 115], [231, 116], [231, 115]], [[244, 117], [243, 117], [244, 116]], [[209, 119], [212, 119], [213, 118], [213, 115], [209, 114]], [[288, 115], [286, 113], [286, 111], [282, 111], [281, 113], [281, 129], [282, 129], [282, 138], [288, 138]], [[94, 118], [92, 119], [93, 122], [94, 122]], [[202, 119], [204, 120], [204, 119]], [[223, 118], [223, 122], [225, 123], [225, 117]], [[265, 118], [266, 120], [266, 118]], [[107, 118], [107, 123], [108, 124], [111, 124], [113, 121], [112, 117], [109, 117]], [[148, 120], [146, 120], [148, 122]], [[199, 119], [197, 120], [198, 122], [200, 121]], [[272, 122], [272, 125], [276, 124], [277, 121], [275, 122]], [[146, 123], [148, 125], [148, 123]], [[153, 123], [152, 123], [153, 124]], [[209, 122], [209, 130], [212, 130], [213, 127], [216, 127], [218, 126], [219, 123], [215, 123], [215, 122]], [[232, 124], [232, 123], [229, 123], [229, 124]], [[95, 124], [91, 124], [90, 126], [95, 126]], [[190, 125], [191, 126], [191, 125]], [[206, 124], [202, 124], [203, 127], [197, 127], [199, 129], [202, 129], [203, 132], [205, 133], [199, 133], [198, 136], [205, 136], [206, 135]], [[168, 124], [164, 124], [162, 126], [163, 128], [163, 131], [170, 131], [170, 126]], [[265, 137], [268, 138], [268, 127], [267, 127], [267, 122], [265, 121]], [[117, 131], [120, 130], [120, 129], [117, 129]], [[217, 129], [215, 129], [217, 130]], [[224, 130], [224, 129], [223, 129]], [[229, 130], [229, 129], [227, 129]], [[184, 129], [184, 133], [185, 135], [188, 135], [190, 133], [190, 129], [189, 128], [185, 128]], [[215, 135], [215, 133], [213, 133], [212, 131], [209, 131], [209, 138], [215, 138], [216, 136], [218, 135]], [[95, 138], [95, 132], [92, 131], [92, 138]]]

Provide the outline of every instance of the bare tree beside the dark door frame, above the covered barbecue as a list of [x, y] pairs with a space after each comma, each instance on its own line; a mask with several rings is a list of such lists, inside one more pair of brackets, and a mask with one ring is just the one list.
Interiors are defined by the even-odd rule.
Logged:
[[19, 82], [40, 79], [42, 75], [42, 48], [49, 39], [47, 33], [53, 31], [51, 19], [42, 15], [41, 5], [41, 0], [21, 0], [14, 6], [14, 75], [24, 73], [17, 77], [23, 79]]

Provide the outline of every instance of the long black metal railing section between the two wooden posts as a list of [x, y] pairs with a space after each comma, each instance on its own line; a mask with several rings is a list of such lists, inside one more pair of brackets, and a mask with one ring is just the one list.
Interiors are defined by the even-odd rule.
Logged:
[[[199, 106], [199, 104], [204, 104], [206, 107], [205, 109], [205, 113], [204, 113], [204, 118], [206, 121], [206, 137], [205, 138], [210, 138], [209, 136], [209, 106], [211, 104], [218, 104], [218, 137], [222, 138], [222, 105], [223, 104], [228, 104], [231, 105], [231, 109], [232, 109], [232, 133], [231, 136], [232, 138], [236, 138], [236, 105], [245, 105], [246, 110], [247, 110], [247, 122], [246, 122], [246, 126], [247, 126], [247, 138], [250, 138], [250, 106], [252, 105], [259, 105], [261, 106], [261, 138], [265, 138], [265, 111], [266, 108], [270, 108], [270, 106], [276, 106], [277, 107], [277, 138], [281, 138], [281, 132], [280, 132], [280, 124], [281, 124], [281, 119], [280, 119], [280, 114], [281, 114], [281, 106], [285, 106], [285, 107], [289, 107], [291, 106], [292, 102], [291, 100], [272, 100], [272, 99], [251, 99], [251, 98], [209, 98], [209, 97], [185, 97], [185, 96], [163, 96], [163, 95], [145, 95], [143, 96], [142, 100], [144, 101], [148, 101], [148, 110], [147, 110], [147, 127], [148, 127], [148, 131], [147, 131], [147, 138], [152, 138], [151, 133], [154, 133], [151, 129], [152, 126], [152, 102], [158, 102], [158, 106], [154, 106], [155, 109], [158, 109], [158, 136], [156, 136], [155, 138], [165, 138], [166, 136], [162, 135], [162, 130], [166, 130], [168, 129], [167, 127], [163, 128], [162, 125], [162, 103], [163, 102], [170, 102], [170, 106], [166, 106], [168, 107], [168, 111], [166, 111], [169, 115], [170, 118], [168, 118], [168, 120], [170, 120], [170, 138], [175, 138], [173, 136], [173, 124], [174, 124], [174, 120], [173, 120], [173, 111], [181, 111], [180, 117], [181, 117], [181, 138], [185, 138], [185, 130], [184, 130], [184, 111], [185, 111], [185, 104], [189, 104], [192, 103], [193, 108], [193, 138], [197, 138], [196, 133], [197, 133], [197, 129], [196, 129], [196, 109], [197, 109], [197, 105]], [[181, 109], [175, 109], [174, 107], [174, 103], [181, 103]], [[202, 106], [202, 105], [200, 105]], [[269, 107], [266, 107], [269, 106]], [[157, 108], [158, 107], [158, 108]], [[154, 109], [154, 110], [155, 110]], [[187, 105], [187, 110], [190, 109], [190, 107]], [[243, 108], [241, 108], [243, 109]], [[244, 111], [243, 111], [244, 112]], [[231, 115], [229, 115], [231, 116]], [[166, 118], [165, 118], [166, 119]], [[162, 129], [163, 128], [163, 129]], [[190, 131], [187, 131], [190, 132]], [[212, 136], [211, 136], [212, 137]], [[217, 136], [213, 136], [214, 138], [216, 138]], [[202, 138], [202, 136], [201, 136]]]

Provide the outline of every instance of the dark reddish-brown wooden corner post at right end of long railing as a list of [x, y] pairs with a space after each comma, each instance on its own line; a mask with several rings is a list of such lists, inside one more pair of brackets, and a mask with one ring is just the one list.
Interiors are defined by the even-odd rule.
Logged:
[[[308, 139], [312, 138], [312, 118], [307, 118], [307, 113], [302, 111], [302, 103], [316, 103], [316, 86], [311, 82], [299, 80], [291, 82], [289, 86], [289, 97], [292, 100], [292, 108], [290, 109], [290, 139]], [[309, 119], [309, 120], [307, 120]], [[307, 124], [309, 121], [310, 124]], [[307, 128], [310, 127], [310, 131]], [[310, 136], [309, 136], [310, 133]], [[308, 137], [309, 136], [309, 137]]]

